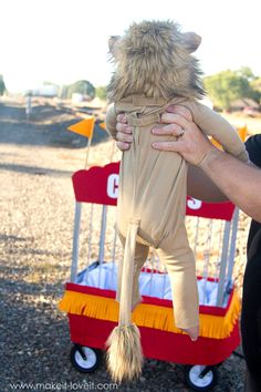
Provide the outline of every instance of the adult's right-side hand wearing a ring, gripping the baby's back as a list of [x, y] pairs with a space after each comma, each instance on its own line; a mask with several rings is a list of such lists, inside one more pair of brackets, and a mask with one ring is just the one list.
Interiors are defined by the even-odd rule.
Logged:
[[[180, 106], [179, 106], [180, 107]], [[161, 122], [168, 125], [152, 130], [154, 135], [173, 135], [174, 141], [153, 142], [153, 148], [160, 151], [173, 151], [179, 153], [192, 165], [199, 166], [203, 158], [217, 148], [209, 142], [208, 137], [188, 118], [185, 113], [176, 113], [171, 106], [161, 116]]]

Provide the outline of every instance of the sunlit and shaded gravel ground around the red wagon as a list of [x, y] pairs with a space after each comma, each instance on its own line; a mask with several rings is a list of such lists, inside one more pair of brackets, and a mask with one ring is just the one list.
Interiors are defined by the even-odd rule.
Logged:
[[[0, 392], [13, 391], [12, 383], [34, 392], [113, 389], [104, 362], [90, 375], [72, 368], [66, 314], [58, 310], [71, 266], [70, 176], [85, 157], [85, 141], [65, 131], [75, 120], [35, 104], [28, 122], [22, 102], [0, 101]], [[91, 163], [106, 162], [108, 144], [94, 147]], [[242, 391], [243, 370], [232, 354], [213, 391]], [[146, 360], [137, 382], [118, 390], [189, 391], [184, 365], [155, 360]]]

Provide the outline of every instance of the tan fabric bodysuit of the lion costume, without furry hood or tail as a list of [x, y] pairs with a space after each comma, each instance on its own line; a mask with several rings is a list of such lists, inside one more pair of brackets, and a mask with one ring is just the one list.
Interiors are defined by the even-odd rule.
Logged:
[[150, 132], [154, 126], [163, 126], [158, 123], [160, 114], [169, 104], [177, 103], [188, 107], [202, 132], [212, 135], [228, 153], [248, 161], [244, 145], [233, 127], [195, 100], [167, 102], [143, 95], [128, 96], [109, 109], [106, 126], [115, 138], [116, 114], [121, 112], [125, 112], [134, 126], [134, 141], [130, 149], [123, 153], [121, 163], [117, 217], [123, 245], [129, 220], [139, 220], [132, 303], [139, 301], [138, 275], [148, 246], [153, 246], [171, 280], [175, 323], [178, 328], [190, 328], [198, 324], [198, 292], [195, 259], [185, 228], [187, 164], [179, 154], [153, 149], [155, 135]]

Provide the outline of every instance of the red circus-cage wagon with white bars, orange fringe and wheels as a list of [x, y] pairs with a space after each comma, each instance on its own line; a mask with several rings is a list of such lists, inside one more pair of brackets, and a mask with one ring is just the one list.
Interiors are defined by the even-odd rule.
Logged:
[[[106, 339], [117, 323], [116, 259], [121, 257], [121, 247], [108, 216], [114, 215], [109, 213], [114, 209], [111, 206], [117, 202], [118, 169], [119, 164], [112, 163], [73, 175], [76, 200], [73, 259], [71, 281], [66, 283], [60, 309], [69, 314], [74, 343], [72, 363], [83, 372], [97, 368], [100, 350], [105, 350]], [[83, 204], [91, 206], [86, 229], [88, 256], [87, 267], [77, 272], [79, 259], [84, 259], [83, 255], [79, 257]], [[94, 214], [95, 205], [101, 207], [101, 223]], [[145, 357], [189, 364], [189, 385], [207, 391], [216, 382], [216, 365], [240, 342], [240, 301], [232, 283], [238, 209], [231, 203], [207, 204], [188, 197], [187, 219], [190, 245], [199, 265], [199, 339], [191, 342], [175, 327], [168, 276], [155, 252], [140, 274], [143, 302], [136, 307], [133, 320], [139, 327]], [[97, 255], [92, 250], [95, 230], [100, 237]]]

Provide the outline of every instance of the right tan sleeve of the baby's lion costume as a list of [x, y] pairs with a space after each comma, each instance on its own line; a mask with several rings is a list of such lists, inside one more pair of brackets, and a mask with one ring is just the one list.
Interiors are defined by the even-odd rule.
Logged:
[[207, 135], [212, 136], [223, 149], [243, 162], [249, 161], [246, 146], [234, 127], [219, 113], [199, 102], [189, 101], [195, 123]]

